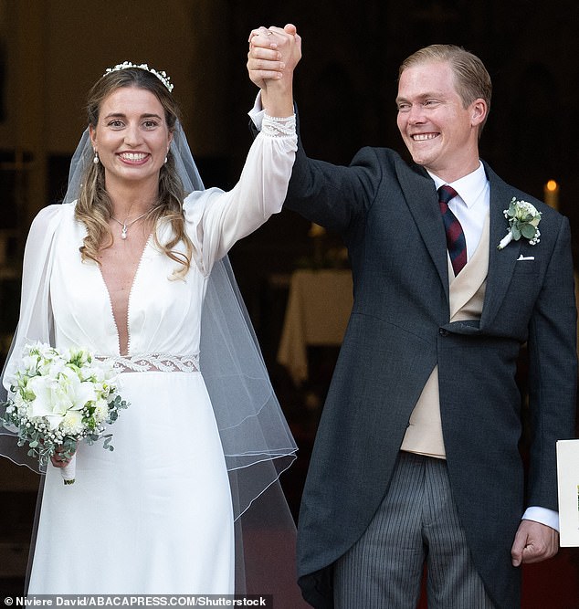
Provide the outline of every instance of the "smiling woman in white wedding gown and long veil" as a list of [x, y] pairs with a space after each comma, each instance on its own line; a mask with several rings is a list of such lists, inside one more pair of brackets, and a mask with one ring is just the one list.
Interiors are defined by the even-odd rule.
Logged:
[[[114, 452], [78, 446], [74, 485], [60, 476], [66, 458], [47, 467], [28, 593], [275, 593], [280, 577], [293, 585], [293, 524], [278, 478], [296, 446], [226, 259], [279, 212], [295, 157], [300, 39], [268, 36], [292, 46], [290, 60], [231, 191], [203, 190], [169, 77], [125, 62], [89, 93], [64, 204], [30, 228], [5, 389], [24, 345], [44, 341], [113, 359], [131, 405], [112, 428]], [[1, 437], [2, 452], [24, 463], [14, 436]], [[256, 562], [264, 540], [283, 546], [268, 546], [268, 565]], [[254, 579], [260, 571], [268, 582]]]

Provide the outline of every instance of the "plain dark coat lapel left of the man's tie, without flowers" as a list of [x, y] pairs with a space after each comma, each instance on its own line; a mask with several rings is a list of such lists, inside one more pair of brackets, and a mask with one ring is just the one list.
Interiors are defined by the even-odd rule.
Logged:
[[398, 180], [448, 299], [447, 236], [437, 203], [437, 189], [422, 167], [411, 165], [410, 169], [409, 172], [408, 165], [401, 160], [396, 166]]

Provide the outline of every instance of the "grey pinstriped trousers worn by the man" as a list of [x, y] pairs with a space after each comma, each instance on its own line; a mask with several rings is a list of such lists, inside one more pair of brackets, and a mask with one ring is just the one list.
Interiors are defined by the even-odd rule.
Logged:
[[444, 459], [400, 452], [368, 529], [336, 563], [335, 609], [493, 609], [467, 547]]

